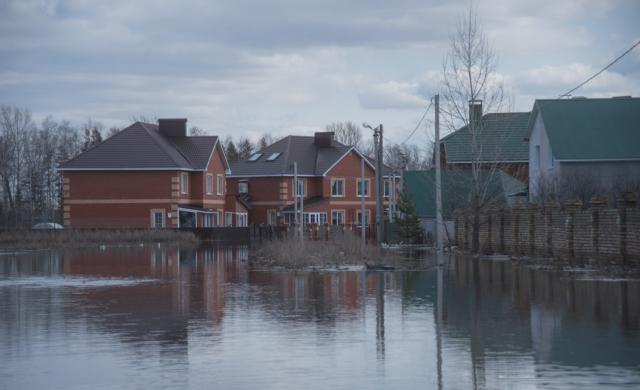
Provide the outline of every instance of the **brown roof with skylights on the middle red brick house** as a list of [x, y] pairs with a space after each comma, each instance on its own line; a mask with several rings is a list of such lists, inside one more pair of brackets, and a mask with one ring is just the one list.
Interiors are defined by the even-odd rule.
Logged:
[[[350, 150], [352, 147], [335, 140], [331, 141], [329, 147], [320, 147], [314, 143], [312, 136], [290, 135], [254, 153], [261, 154], [255, 161], [251, 161], [250, 157], [232, 162], [231, 176], [293, 175], [294, 161], [298, 163], [299, 175], [321, 176]], [[269, 161], [274, 153], [280, 155]]]

